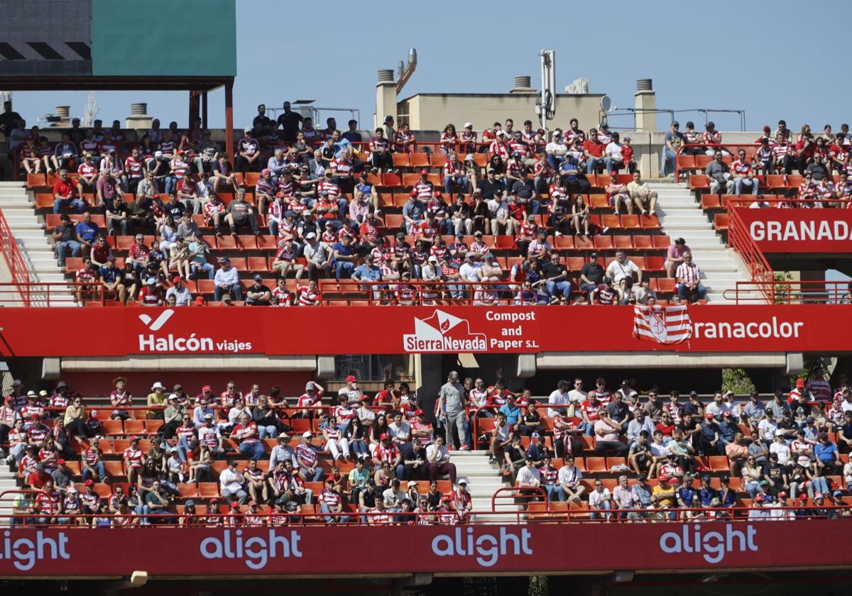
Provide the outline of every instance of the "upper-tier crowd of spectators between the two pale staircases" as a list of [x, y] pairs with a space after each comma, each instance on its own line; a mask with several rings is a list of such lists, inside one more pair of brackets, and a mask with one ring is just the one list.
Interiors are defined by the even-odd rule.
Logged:
[[[184, 281], [218, 276], [193, 215], [219, 237], [268, 232], [278, 244], [271, 268], [279, 277], [353, 278], [365, 289], [388, 282], [377, 289], [386, 302], [406, 303], [406, 296], [418, 295], [419, 285], [411, 284], [417, 281], [440, 284], [438, 294], [446, 299], [469, 295], [469, 284], [506, 281], [492, 245], [481, 239], [504, 235], [513, 238], [511, 248], [525, 260], [512, 267], [514, 284], [482, 289], [483, 300], [561, 304], [573, 295], [579, 302], [626, 303], [633, 282], [638, 287], [636, 276], [628, 276], [620, 289], [617, 279], [607, 287], [603, 277], [581, 278], [579, 284], [596, 290], [579, 291], [552, 258], [555, 242], [548, 238], [607, 231], [590, 219], [589, 175], [612, 175], [603, 192], [616, 214], [650, 215], [657, 203], [636, 169], [630, 138], [622, 142], [606, 122], [586, 133], [572, 118], [569, 128], [551, 133], [533, 129], [531, 121], [515, 129], [507, 119], [481, 135], [472, 123], [461, 132], [448, 124], [440, 142], [418, 146], [406, 124], [394, 125], [394, 117], [386, 117], [365, 139], [354, 120], [346, 131], [337, 129], [334, 118], [325, 129], [314, 129], [311, 118], [285, 102], [276, 120], [266, 115], [266, 106], [258, 106], [233, 153], [211, 141], [198, 120], [182, 130], [175, 122], [160, 129], [155, 119], [138, 145], [125, 140], [118, 121], [110, 129], [100, 121], [91, 129], [78, 124], [49, 156], [21, 161], [27, 171], [57, 174], [54, 213], [72, 210], [88, 221], [81, 229], [64, 220], [53, 230], [57, 259], [64, 266], [67, 256], [89, 255], [78, 282], [94, 279], [121, 300], [149, 305], [168, 303], [175, 273]], [[42, 137], [37, 127], [19, 128], [26, 135], [17, 150], [26, 155]], [[429, 168], [420, 171], [401, 207], [401, 230], [389, 240], [377, 178], [371, 175], [399, 174], [394, 155], [418, 149], [444, 154], [446, 163], [437, 178]], [[78, 175], [70, 177], [69, 168]], [[632, 180], [619, 181], [619, 171], [632, 174]], [[243, 175], [242, 183], [235, 172]], [[250, 172], [256, 172], [253, 185], [246, 183]], [[253, 192], [247, 196], [246, 190]], [[106, 226], [93, 229], [85, 214], [104, 215]], [[143, 240], [131, 250], [132, 262], [113, 272], [106, 237], [128, 234]], [[153, 242], [145, 236], [153, 236]], [[95, 254], [99, 238], [104, 260]], [[543, 277], [545, 269], [554, 274]], [[152, 291], [143, 294], [149, 285]], [[234, 279], [216, 280], [216, 300], [227, 295], [239, 301], [245, 293]], [[176, 306], [194, 303], [180, 294]], [[268, 292], [250, 302], [314, 304], [309, 297], [283, 298]]]

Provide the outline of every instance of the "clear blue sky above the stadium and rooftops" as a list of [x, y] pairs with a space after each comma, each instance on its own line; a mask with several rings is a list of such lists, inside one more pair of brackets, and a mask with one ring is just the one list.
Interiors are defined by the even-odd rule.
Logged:
[[[842, 66], [842, 25], [849, 23], [852, 3], [829, 0], [815, 10], [787, 0], [614, 0], [607, 6], [498, 0], [452, 3], [447, 9], [440, 3], [385, 0], [239, 0], [234, 122], [250, 123], [261, 102], [314, 99], [320, 106], [360, 108], [361, 125], [368, 126], [375, 110], [377, 70], [395, 69], [410, 47], [417, 48], [419, 64], [403, 96], [418, 91], [505, 92], [520, 74], [531, 75], [538, 87], [538, 51], [547, 48], [556, 50], [557, 89], [590, 77], [591, 91], [607, 93], [619, 107], [633, 106], [637, 78], [653, 78], [658, 107], [744, 109], [750, 130], [774, 125], [780, 117], [792, 129], [809, 123], [820, 130], [826, 123], [837, 128], [852, 119], [852, 81], [843, 76]], [[288, 31], [292, 35], [285, 36]], [[825, 37], [821, 49], [815, 36]], [[818, 97], [802, 95], [803, 89], [815, 89], [801, 83], [802, 77], [820, 89]], [[73, 114], [82, 114], [87, 95], [20, 92], [15, 108], [35, 123], [57, 105], [71, 105]], [[132, 101], [147, 101], [149, 114], [186, 125], [187, 94], [182, 92], [101, 92], [98, 116], [124, 119]], [[212, 126], [224, 123], [222, 106], [222, 91], [212, 94]], [[570, 117], [557, 114], [551, 126], [565, 126]], [[678, 117], [703, 118], [698, 113]], [[665, 118], [658, 118], [661, 126]], [[735, 115], [712, 119], [719, 129], [739, 129]], [[632, 124], [628, 117], [611, 122]]]

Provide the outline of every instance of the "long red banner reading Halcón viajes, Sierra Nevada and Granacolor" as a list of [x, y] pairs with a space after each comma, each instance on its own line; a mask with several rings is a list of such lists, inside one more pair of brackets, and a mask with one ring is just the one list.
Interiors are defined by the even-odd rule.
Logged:
[[[852, 305], [694, 305], [689, 337], [633, 335], [633, 307], [0, 309], [0, 355], [814, 352], [852, 347]], [[653, 324], [653, 320], [652, 320]], [[359, 352], [361, 350], [362, 352]]]

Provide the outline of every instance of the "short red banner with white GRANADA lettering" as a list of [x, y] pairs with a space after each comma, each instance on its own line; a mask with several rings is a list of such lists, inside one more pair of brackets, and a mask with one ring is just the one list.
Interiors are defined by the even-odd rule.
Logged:
[[764, 253], [852, 251], [852, 209], [737, 209]]

